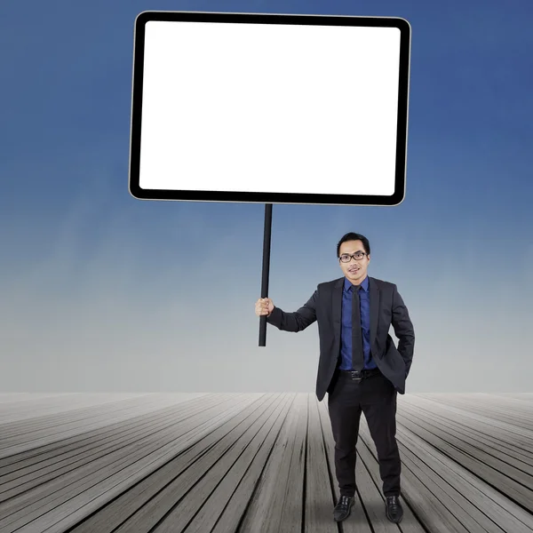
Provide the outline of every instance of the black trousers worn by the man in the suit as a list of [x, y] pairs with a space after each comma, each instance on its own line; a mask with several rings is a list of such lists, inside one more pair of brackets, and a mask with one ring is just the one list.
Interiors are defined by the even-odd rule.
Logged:
[[328, 408], [340, 495], [355, 494], [355, 444], [362, 411], [378, 452], [383, 494], [400, 496], [401, 463], [395, 437], [397, 391], [380, 372], [358, 381], [351, 379], [349, 372], [338, 371], [334, 380], [328, 394]]

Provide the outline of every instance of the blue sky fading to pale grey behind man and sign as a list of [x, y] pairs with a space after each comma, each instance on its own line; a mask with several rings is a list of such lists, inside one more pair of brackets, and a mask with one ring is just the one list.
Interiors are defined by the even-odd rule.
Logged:
[[133, 21], [161, 9], [410, 21], [406, 199], [275, 205], [270, 296], [303, 304], [361, 232], [415, 323], [408, 392], [530, 390], [533, 5], [369, 5], [1, 4], [0, 389], [314, 390], [315, 326], [258, 347], [263, 206], [128, 193]]

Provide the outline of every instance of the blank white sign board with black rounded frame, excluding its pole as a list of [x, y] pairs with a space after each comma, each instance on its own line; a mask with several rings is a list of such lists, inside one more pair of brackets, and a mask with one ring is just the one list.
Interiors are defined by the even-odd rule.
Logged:
[[402, 19], [143, 12], [131, 194], [400, 203], [409, 59]]

